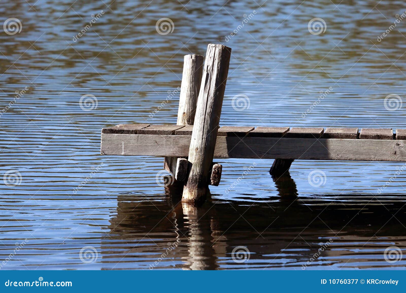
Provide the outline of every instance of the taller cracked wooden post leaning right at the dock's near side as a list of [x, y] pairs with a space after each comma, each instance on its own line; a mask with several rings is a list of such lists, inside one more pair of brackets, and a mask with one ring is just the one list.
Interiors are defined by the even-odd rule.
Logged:
[[229, 47], [214, 44], [207, 46], [189, 147], [188, 161], [191, 167], [183, 190], [182, 202], [197, 204], [206, 196], [230, 56]]

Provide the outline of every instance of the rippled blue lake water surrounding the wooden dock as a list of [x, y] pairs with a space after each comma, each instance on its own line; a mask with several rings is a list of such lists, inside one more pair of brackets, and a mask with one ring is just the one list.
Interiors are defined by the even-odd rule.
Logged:
[[154, 110], [208, 43], [232, 48], [220, 125], [406, 128], [384, 107], [406, 94], [403, 1], [28, 2], [0, 4], [21, 28], [0, 33], [0, 269], [405, 267], [385, 260], [406, 244], [404, 163], [298, 160], [274, 182], [272, 160], [217, 160], [193, 209], [162, 158], [99, 154], [102, 127], [176, 123], [178, 95]]

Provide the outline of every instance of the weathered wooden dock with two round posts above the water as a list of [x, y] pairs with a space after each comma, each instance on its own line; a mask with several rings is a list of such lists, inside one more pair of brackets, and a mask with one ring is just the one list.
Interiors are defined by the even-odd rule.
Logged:
[[[204, 201], [220, 182], [213, 158], [274, 159], [273, 178], [294, 160], [406, 162], [406, 129], [219, 127], [231, 48], [209, 44], [203, 56], [186, 55], [177, 125], [119, 124], [102, 129], [101, 153], [163, 156], [164, 168], [183, 188], [183, 203]], [[193, 125], [191, 125], [193, 124]]]

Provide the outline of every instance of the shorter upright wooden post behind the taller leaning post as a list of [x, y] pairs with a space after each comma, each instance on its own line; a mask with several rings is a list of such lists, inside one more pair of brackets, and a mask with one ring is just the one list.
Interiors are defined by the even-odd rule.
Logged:
[[[203, 56], [184, 57], [177, 125], [193, 125], [203, 74]], [[177, 157], [165, 157], [164, 168], [175, 176]]]

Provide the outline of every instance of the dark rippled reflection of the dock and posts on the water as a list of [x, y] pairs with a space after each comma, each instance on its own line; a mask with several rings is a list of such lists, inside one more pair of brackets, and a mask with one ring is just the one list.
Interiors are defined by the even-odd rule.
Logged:
[[[275, 183], [281, 196], [294, 192], [290, 177]], [[347, 197], [353, 199], [354, 195]], [[340, 200], [345, 198], [346, 195], [340, 195]], [[382, 198], [377, 202], [364, 196], [351, 205], [297, 197], [281, 197], [279, 202], [232, 204], [208, 200], [202, 207], [182, 206], [179, 200], [180, 195], [153, 202], [119, 197], [117, 215], [108, 227], [109, 241], [102, 244], [102, 250], [115, 251], [117, 247], [111, 240], [124, 241], [127, 245], [121, 252], [122, 261], [134, 263], [129, 267], [147, 269], [168, 244], [179, 240], [177, 247], [154, 267], [220, 269], [244, 265], [233, 262], [231, 252], [237, 246], [245, 246], [251, 253], [251, 268], [286, 268], [300, 267], [317, 252], [320, 243], [333, 238], [311, 264], [330, 268], [328, 265], [346, 263], [343, 261], [346, 258], [348, 267], [354, 262], [363, 263], [365, 255], [376, 255], [378, 261], [384, 261], [383, 251], [393, 245], [391, 239], [399, 238], [395, 245], [406, 243], [401, 236], [404, 233], [396, 232], [404, 231], [402, 223], [406, 220], [401, 213], [393, 217], [404, 205], [396, 199], [388, 204]], [[373, 252], [377, 249], [378, 252]], [[359, 258], [350, 256], [351, 253]], [[103, 261], [108, 262], [106, 255], [109, 254], [103, 253]], [[364, 263], [365, 267], [374, 265], [377, 264]]]

